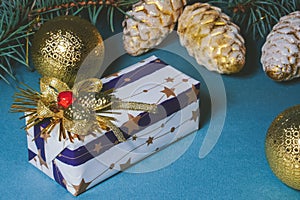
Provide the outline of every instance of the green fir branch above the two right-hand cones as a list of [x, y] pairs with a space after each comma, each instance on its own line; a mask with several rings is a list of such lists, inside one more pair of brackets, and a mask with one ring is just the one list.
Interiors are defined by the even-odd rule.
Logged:
[[297, 0], [215, 0], [241, 30], [254, 39], [265, 38], [279, 19], [297, 9]]

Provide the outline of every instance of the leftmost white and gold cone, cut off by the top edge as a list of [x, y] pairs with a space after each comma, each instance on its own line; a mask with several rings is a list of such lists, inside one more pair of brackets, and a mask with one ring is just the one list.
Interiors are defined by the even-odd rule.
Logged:
[[123, 21], [127, 53], [137, 56], [159, 45], [174, 29], [185, 0], [144, 0], [133, 5]]

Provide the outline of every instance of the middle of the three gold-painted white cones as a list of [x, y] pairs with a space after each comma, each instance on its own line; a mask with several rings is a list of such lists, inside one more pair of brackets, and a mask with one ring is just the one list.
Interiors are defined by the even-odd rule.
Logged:
[[221, 9], [207, 3], [186, 6], [177, 32], [181, 45], [208, 70], [231, 74], [243, 68], [244, 39], [239, 27]]

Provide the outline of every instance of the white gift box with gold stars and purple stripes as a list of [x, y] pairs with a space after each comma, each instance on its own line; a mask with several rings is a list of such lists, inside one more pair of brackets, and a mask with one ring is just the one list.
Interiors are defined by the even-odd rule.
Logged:
[[155, 56], [102, 82], [103, 90], [114, 89], [121, 100], [157, 105], [155, 113], [112, 113], [125, 142], [119, 142], [112, 131], [60, 141], [60, 125], [50, 137], [41, 137], [49, 119], [28, 129], [29, 162], [75, 196], [199, 127], [200, 83]]

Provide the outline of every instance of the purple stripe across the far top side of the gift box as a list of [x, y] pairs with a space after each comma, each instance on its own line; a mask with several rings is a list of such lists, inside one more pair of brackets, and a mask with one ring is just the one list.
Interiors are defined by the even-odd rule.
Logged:
[[126, 74], [122, 74], [116, 77], [115, 79], [104, 83], [103, 90], [105, 91], [112, 88], [117, 89], [124, 87], [130, 84], [131, 82], [137, 81], [149, 74], [156, 72], [157, 70], [164, 68], [165, 66], [167, 66], [167, 64], [161, 61], [160, 59], [153, 60], [150, 63], [147, 63], [137, 68], [136, 70], [130, 71]]

